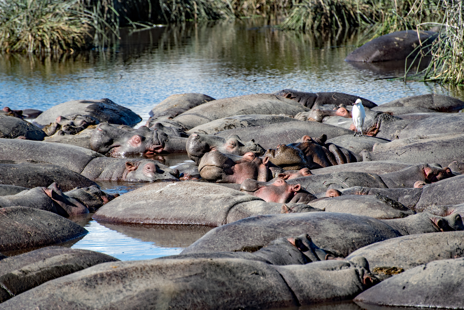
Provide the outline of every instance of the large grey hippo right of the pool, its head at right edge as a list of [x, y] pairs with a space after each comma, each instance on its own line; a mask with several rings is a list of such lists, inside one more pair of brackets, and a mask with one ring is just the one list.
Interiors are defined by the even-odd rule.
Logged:
[[[441, 231], [436, 224], [439, 221], [443, 230], [462, 230], [459, 215], [443, 218], [425, 212], [387, 220], [336, 212], [258, 215], [208, 231], [181, 254], [253, 252], [279, 237], [307, 233], [319, 248], [347, 257], [353, 251], [375, 242], [408, 234]], [[455, 224], [457, 222], [460, 225]]]

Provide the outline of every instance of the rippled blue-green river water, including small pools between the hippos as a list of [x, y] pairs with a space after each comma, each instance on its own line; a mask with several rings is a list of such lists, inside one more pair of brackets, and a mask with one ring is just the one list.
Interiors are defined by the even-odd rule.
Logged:
[[[437, 83], [391, 80], [404, 63], [352, 64], [357, 33], [301, 34], [279, 31], [263, 19], [203, 25], [122, 29], [115, 50], [75, 52], [39, 59], [0, 54], [0, 106], [46, 110], [75, 99], [109, 98], [142, 117], [169, 95], [200, 92], [220, 99], [292, 88], [346, 92], [377, 104], [401, 97], [440, 93], [464, 100], [464, 89]], [[182, 154], [161, 159], [176, 166]], [[143, 184], [100, 183], [124, 193]], [[73, 218], [89, 234], [72, 245], [136, 260], [180, 253], [211, 229], [189, 225], [116, 225], [90, 216]]]

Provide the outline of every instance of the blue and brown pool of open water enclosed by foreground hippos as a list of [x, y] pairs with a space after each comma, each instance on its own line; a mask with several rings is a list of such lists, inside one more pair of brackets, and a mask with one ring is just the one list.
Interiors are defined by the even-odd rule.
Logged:
[[201, 225], [114, 224], [92, 220], [92, 213], [70, 220], [85, 227], [87, 235], [69, 245], [97, 251], [120, 260], [142, 260], [179, 254], [212, 227]]

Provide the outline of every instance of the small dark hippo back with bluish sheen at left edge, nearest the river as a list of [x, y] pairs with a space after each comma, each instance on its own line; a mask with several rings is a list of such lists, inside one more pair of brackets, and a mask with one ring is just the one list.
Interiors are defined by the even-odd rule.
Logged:
[[0, 138], [16, 139], [21, 137], [41, 141], [46, 136], [45, 132], [36, 125], [10, 115], [0, 114]]

